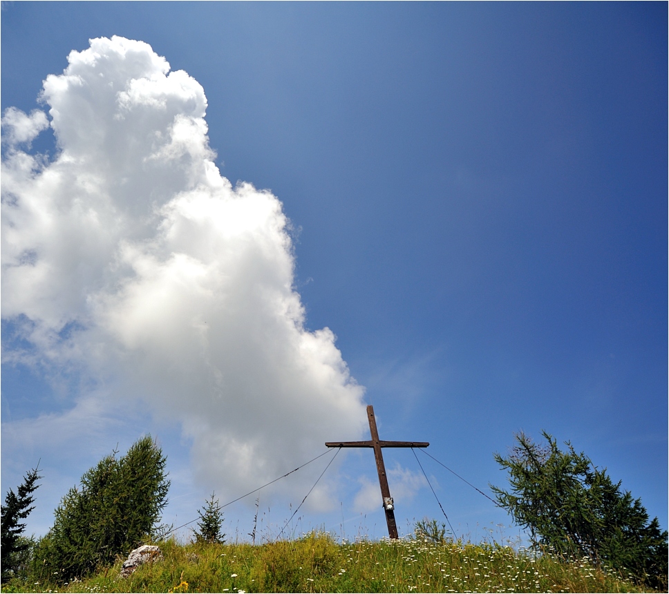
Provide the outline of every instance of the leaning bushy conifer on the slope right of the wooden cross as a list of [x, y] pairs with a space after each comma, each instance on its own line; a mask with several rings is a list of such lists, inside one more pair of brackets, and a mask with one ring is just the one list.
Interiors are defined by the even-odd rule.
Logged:
[[641, 499], [621, 491], [589, 458], [567, 442], [562, 452], [543, 432], [546, 446], [516, 435], [508, 457], [495, 455], [509, 471], [510, 490], [491, 486], [498, 504], [529, 530], [535, 546], [559, 555], [589, 557], [632, 573], [653, 588], [667, 587], [668, 533], [657, 517], [648, 521]]

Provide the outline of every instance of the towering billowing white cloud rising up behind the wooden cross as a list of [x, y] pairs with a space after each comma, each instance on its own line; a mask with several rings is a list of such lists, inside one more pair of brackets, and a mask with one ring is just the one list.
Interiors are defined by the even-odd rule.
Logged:
[[[178, 419], [220, 495], [358, 439], [363, 389], [305, 328], [282, 204], [220, 175], [200, 84], [121, 37], [68, 62], [49, 118], [2, 119], [5, 357]], [[53, 160], [29, 151], [49, 125]]]

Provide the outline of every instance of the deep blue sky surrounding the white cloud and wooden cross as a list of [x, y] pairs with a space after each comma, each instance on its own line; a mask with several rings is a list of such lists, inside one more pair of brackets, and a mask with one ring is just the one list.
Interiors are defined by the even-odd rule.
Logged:
[[[263, 398], [267, 410], [305, 411], [267, 413], [249, 429], [265, 448], [293, 456], [270, 457], [268, 468], [290, 470], [321, 453], [315, 438], [299, 441], [311, 428], [319, 439], [329, 430], [366, 439], [364, 412], [355, 419], [372, 403], [381, 439], [430, 441], [434, 457], [482, 489], [505, 484], [493, 453], [505, 452], [514, 432], [547, 430], [606, 467], [666, 528], [666, 21], [665, 3], [3, 3], [3, 113], [48, 112], [37, 102], [43, 80], [62, 75], [70, 51], [98, 37], [144, 41], [172, 72], [185, 70], [202, 86], [220, 175], [269, 189], [290, 219], [292, 247], [279, 256], [294, 265], [293, 296], [305, 312], [299, 336], [320, 336], [328, 356], [336, 345], [357, 381], [337, 376], [339, 392], [319, 384], [314, 410], [328, 417], [320, 419], [308, 399], [283, 408], [290, 381], [274, 394], [283, 376], [256, 365], [249, 350], [249, 370], [217, 384], [224, 420], [207, 426], [209, 441], [200, 443], [209, 404], [187, 393], [187, 356], [174, 385], [194, 410], [202, 405], [202, 416], [188, 419], [178, 394], [173, 406], [161, 401], [160, 366], [169, 367], [169, 357], [150, 359], [153, 375], [138, 363], [139, 379], [130, 380], [134, 368], [116, 355], [93, 364], [67, 350], [68, 332], [111, 340], [95, 334], [84, 306], [63, 306], [50, 326], [58, 356], [17, 334], [31, 315], [46, 320], [52, 306], [21, 309], [18, 281], [3, 268], [2, 490], [41, 459], [28, 529], [44, 533], [82, 473], [144, 432], [168, 454], [168, 521], [196, 517], [212, 488], [232, 499], [256, 477], [259, 486], [262, 473], [233, 476], [243, 474], [234, 464], [212, 476], [202, 469], [214, 464], [211, 443], [232, 431], [227, 416], [264, 410]], [[95, 136], [92, 124], [68, 126], [84, 140]], [[124, 133], [119, 142], [130, 143], [133, 129]], [[50, 129], [21, 150], [47, 151], [57, 162]], [[72, 220], [54, 225], [70, 229]], [[39, 243], [37, 228], [26, 227], [25, 245]], [[132, 233], [124, 240], [136, 240]], [[66, 237], [50, 239], [47, 260]], [[3, 243], [3, 251], [11, 249]], [[88, 262], [76, 253], [58, 260], [64, 268], [54, 269], [61, 276], [49, 284], [50, 303], [65, 303], [62, 291], [102, 291], [97, 281], [68, 281], [66, 271]], [[104, 276], [109, 262], [95, 262], [91, 278]], [[314, 334], [324, 327], [336, 343]], [[169, 336], [168, 343], [177, 334]], [[234, 354], [227, 336], [218, 335], [217, 356]], [[276, 349], [283, 353], [281, 341]], [[253, 392], [254, 401], [245, 390], [265, 378], [270, 387]], [[332, 421], [335, 392], [348, 399], [341, 422]], [[348, 438], [321, 441], [336, 439]], [[365, 502], [376, 480], [371, 452], [337, 461], [303, 528], [384, 535], [380, 504]], [[414, 518], [440, 517], [411, 452], [386, 450], [386, 466], [404, 533]], [[261, 494], [270, 524], [285, 521], [323, 467]], [[478, 538], [491, 523], [510, 524], [439, 466], [428, 460], [424, 468], [459, 533]], [[245, 533], [252, 508], [227, 510], [232, 531]]]

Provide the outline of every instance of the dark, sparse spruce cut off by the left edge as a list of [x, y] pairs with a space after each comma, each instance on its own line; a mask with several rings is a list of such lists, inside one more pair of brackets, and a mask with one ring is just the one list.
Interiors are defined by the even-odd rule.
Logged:
[[12, 489], [9, 490], [5, 497], [5, 505], [1, 507], [1, 581], [6, 582], [7, 579], [15, 575], [19, 565], [26, 556], [26, 552], [30, 547], [30, 539], [23, 538], [23, 530], [26, 529], [26, 524], [21, 522], [21, 519], [26, 519], [30, 512], [35, 509], [32, 505], [35, 498], [32, 493], [35, 492], [37, 481], [41, 476], [37, 474], [39, 463], [37, 467], [33, 468], [23, 477], [23, 483], [17, 488], [15, 493]]

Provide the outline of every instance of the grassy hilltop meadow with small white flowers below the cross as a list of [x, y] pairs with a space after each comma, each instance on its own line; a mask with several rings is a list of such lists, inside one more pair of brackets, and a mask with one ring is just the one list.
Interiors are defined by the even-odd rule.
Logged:
[[57, 585], [15, 580], [5, 592], [643, 592], [585, 562], [535, 557], [498, 544], [416, 539], [338, 544], [313, 533], [251, 544], [160, 543], [164, 559], [120, 578], [122, 559], [97, 575]]

